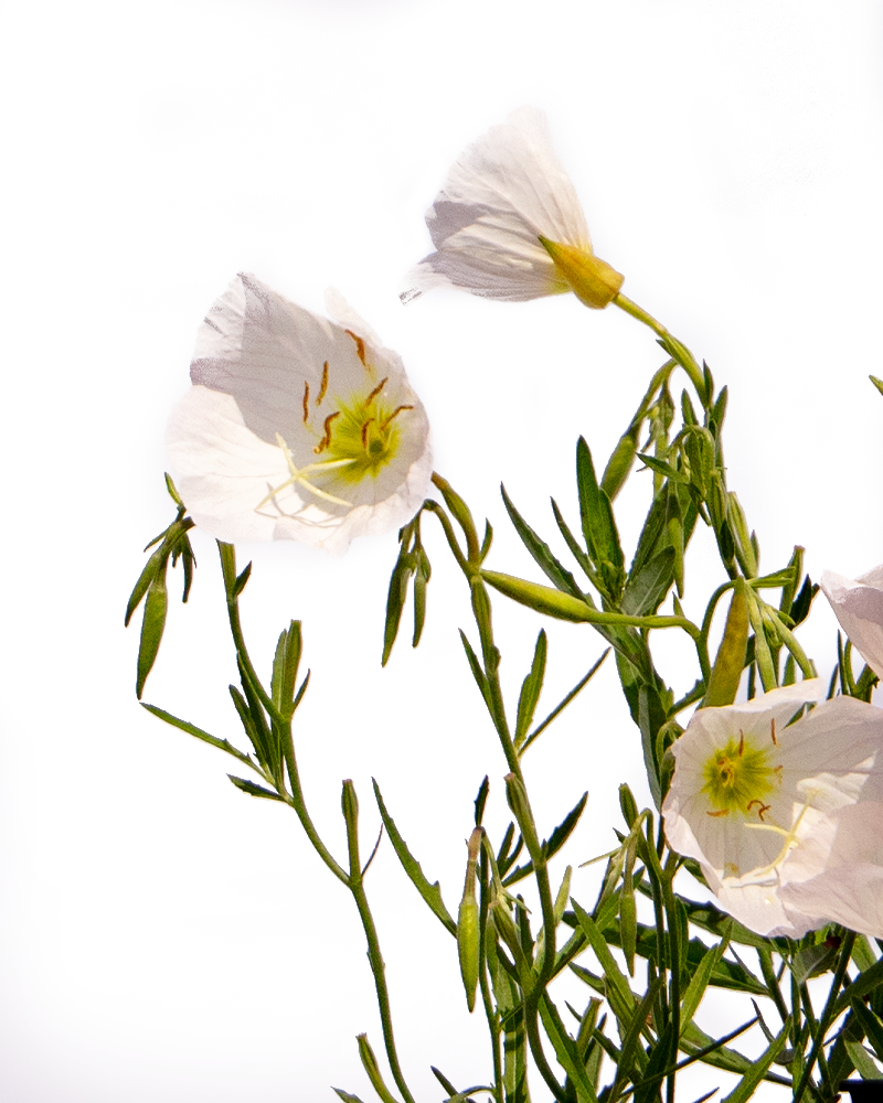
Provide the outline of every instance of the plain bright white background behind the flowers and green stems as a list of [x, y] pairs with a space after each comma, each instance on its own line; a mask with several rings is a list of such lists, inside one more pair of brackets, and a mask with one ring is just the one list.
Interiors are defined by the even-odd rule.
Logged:
[[[437, 470], [496, 526], [490, 565], [538, 577], [500, 480], [551, 536], [550, 492], [574, 516], [577, 435], [603, 463], [660, 351], [573, 297], [434, 291], [404, 309], [396, 295], [429, 251], [423, 214], [453, 159], [533, 104], [626, 293], [731, 385], [730, 484], [764, 567], [800, 543], [815, 578], [861, 572], [883, 558], [883, 398], [868, 382], [883, 375], [880, 8], [55, 0], [10, 6], [3, 23], [0, 1097], [276, 1103], [331, 1100], [336, 1084], [369, 1101], [354, 1035], [380, 1051], [380, 1028], [351, 900], [289, 812], [236, 792], [232, 760], [132, 693], [123, 609], [172, 516], [163, 428], [196, 326], [238, 270], [315, 310], [338, 287], [403, 354]], [[624, 503], [626, 540], [646, 485]], [[216, 556], [199, 533], [194, 546], [195, 590], [171, 610], [146, 699], [236, 738]], [[240, 557], [255, 564], [244, 615], [262, 668], [288, 618], [305, 622], [298, 747], [329, 845], [342, 854], [351, 777], [370, 848], [374, 774], [453, 910], [471, 801], [489, 773], [496, 829], [504, 763], [459, 652], [466, 587], [432, 532], [429, 550], [425, 643], [400, 640], [385, 671], [394, 535], [339, 560], [296, 545]], [[720, 580], [704, 537], [698, 559], [694, 617]], [[496, 608], [517, 694], [539, 624]], [[802, 638], [827, 671], [833, 619], [815, 621]], [[587, 627], [550, 634], [541, 710], [600, 651]], [[691, 685], [689, 652], [661, 654]], [[544, 739], [526, 760], [543, 833], [591, 791], [577, 863], [611, 844], [620, 781], [647, 800], [613, 665]], [[574, 877], [586, 904], [592, 876]], [[413, 1091], [440, 1097], [430, 1063], [481, 1082], [453, 940], [386, 844], [369, 891]], [[700, 1020], [751, 1014], [740, 997]], [[706, 1073], [681, 1099], [728, 1082]]]

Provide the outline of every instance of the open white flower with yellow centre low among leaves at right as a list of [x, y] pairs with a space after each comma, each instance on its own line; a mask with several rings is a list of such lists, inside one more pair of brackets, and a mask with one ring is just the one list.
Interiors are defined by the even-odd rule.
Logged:
[[817, 705], [818, 679], [699, 709], [672, 747], [662, 805], [671, 848], [759, 934], [828, 922], [883, 936], [883, 711]]

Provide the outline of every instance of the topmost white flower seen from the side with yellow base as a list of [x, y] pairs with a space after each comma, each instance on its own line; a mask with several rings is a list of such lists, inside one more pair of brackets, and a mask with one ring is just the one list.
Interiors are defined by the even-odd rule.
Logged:
[[453, 283], [488, 299], [522, 302], [573, 291], [602, 308], [623, 286], [592, 251], [576, 191], [562, 168], [545, 116], [521, 107], [455, 162], [426, 212], [436, 251], [408, 274], [409, 302]]

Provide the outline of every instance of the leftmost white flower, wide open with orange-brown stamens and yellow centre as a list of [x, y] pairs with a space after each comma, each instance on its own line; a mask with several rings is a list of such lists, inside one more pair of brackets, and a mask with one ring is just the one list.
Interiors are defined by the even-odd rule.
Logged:
[[311, 314], [249, 275], [214, 303], [167, 433], [200, 528], [340, 553], [417, 512], [432, 474], [426, 411], [400, 357], [352, 319]]

